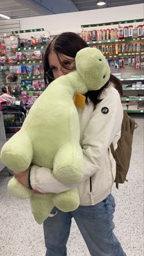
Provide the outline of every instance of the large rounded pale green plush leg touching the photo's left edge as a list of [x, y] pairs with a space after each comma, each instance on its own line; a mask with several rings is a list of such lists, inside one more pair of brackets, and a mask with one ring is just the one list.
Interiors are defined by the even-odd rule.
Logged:
[[33, 148], [29, 134], [18, 131], [7, 141], [1, 150], [1, 161], [11, 170], [23, 172], [32, 163]]

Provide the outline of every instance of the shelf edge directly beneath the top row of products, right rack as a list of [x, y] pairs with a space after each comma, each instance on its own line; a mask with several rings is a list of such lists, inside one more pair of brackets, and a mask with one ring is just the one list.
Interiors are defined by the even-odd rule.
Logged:
[[88, 41], [86, 42], [88, 45], [99, 45], [101, 43], [123, 43], [123, 42], [132, 42], [132, 41], [137, 41], [141, 42], [144, 40], [144, 37], [125, 37], [123, 39], [111, 39], [111, 40], [98, 40], [98, 41]]

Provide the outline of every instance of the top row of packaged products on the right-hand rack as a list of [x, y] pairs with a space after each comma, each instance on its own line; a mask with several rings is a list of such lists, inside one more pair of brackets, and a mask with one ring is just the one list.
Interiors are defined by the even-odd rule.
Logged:
[[137, 27], [132, 25], [124, 27], [115, 27], [107, 29], [93, 29], [90, 31], [84, 31], [82, 29], [81, 37], [86, 41], [99, 41], [99, 40], [113, 40], [126, 37], [141, 37], [144, 36], [144, 24], [140, 24]]

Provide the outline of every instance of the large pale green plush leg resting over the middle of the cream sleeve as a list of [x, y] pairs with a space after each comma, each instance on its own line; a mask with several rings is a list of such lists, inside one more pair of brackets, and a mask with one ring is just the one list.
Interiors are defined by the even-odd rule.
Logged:
[[62, 183], [80, 181], [84, 175], [84, 159], [80, 145], [68, 142], [54, 156], [54, 176]]

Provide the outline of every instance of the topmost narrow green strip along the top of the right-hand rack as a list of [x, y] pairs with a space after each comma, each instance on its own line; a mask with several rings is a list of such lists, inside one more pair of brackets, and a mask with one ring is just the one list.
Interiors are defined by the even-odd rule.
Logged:
[[99, 24], [86, 24], [86, 25], [81, 25], [81, 27], [98, 27], [98, 26], [108, 26], [108, 25], [136, 23], [136, 22], [143, 22], [143, 21], [144, 21], [144, 19], [128, 20], [128, 21], [114, 21], [114, 22], [99, 23]]

